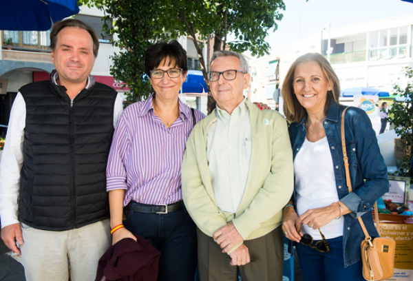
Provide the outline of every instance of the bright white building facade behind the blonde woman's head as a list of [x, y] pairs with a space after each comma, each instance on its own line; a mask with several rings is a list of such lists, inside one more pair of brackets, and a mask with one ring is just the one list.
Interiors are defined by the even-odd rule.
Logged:
[[392, 19], [380, 19], [348, 25], [343, 28], [322, 30], [317, 34], [299, 39], [286, 52], [250, 61], [255, 71], [251, 87], [255, 90], [254, 101], [272, 104], [273, 83], [267, 70], [277, 60], [277, 84], [281, 87], [286, 72], [298, 56], [319, 52], [328, 58], [339, 76], [341, 89], [348, 87], [375, 87], [392, 93], [395, 83], [405, 85], [403, 67], [413, 66], [412, 32], [413, 15]]

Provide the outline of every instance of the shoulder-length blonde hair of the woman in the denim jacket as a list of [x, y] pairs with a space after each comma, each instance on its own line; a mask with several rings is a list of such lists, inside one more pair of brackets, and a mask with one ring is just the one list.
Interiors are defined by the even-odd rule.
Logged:
[[290, 122], [300, 122], [306, 115], [306, 109], [299, 103], [297, 96], [294, 94], [294, 73], [297, 65], [314, 61], [318, 63], [326, 75], [328, 83], [332, 86], [332, 90], [327, 92], [326, 104], [324, 105], [324, 114], [327, 114], [330, 103], [339, 103], [340, 82], [337, 74], [335, 74], [330, 63], [319, 53], [307, 53], [299, 56], [298, 59], [290, 66], [282, 83], [282, 98], [284, 99], [284, 114]]

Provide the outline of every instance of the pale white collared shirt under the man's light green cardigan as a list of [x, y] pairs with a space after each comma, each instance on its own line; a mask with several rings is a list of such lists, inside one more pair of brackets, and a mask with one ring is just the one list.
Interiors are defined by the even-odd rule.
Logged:
[[251, 163], [251, 120], [245, 99], [230, 115], [217, 106], [218, 120], [207, 133], [207, 158], [215, 200], [235, 214], [244, 196]]

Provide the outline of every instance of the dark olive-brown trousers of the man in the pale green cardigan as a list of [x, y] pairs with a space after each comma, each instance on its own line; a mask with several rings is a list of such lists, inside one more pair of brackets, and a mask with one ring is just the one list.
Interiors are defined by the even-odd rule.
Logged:
[[253, 240], [245, 240], [251, 262], [235, 267], [222, 253], [213, 238], [197, 229], [198, 267], [201, 281], [236, 281], [240, 271], [242, 281], [281, 281], [284, 266], [284, 242], [281, 226]]

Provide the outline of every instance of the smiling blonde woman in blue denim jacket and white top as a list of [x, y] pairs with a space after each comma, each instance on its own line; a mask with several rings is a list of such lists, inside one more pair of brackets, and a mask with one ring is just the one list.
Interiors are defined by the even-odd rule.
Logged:
[[370, 236], [372, 206], [388, 191], [387, 167], [370, 118], [349, 107], [346, 147], [353, 191], [349, 193], [341, 149], [339, 79], [324, 56], [300, 56], [284, 79], [282, 96], [294, 152], [295, 196], [284, 209], [282, 229], [297, 242], [306, 281], [363, 280], [362, 216]]

